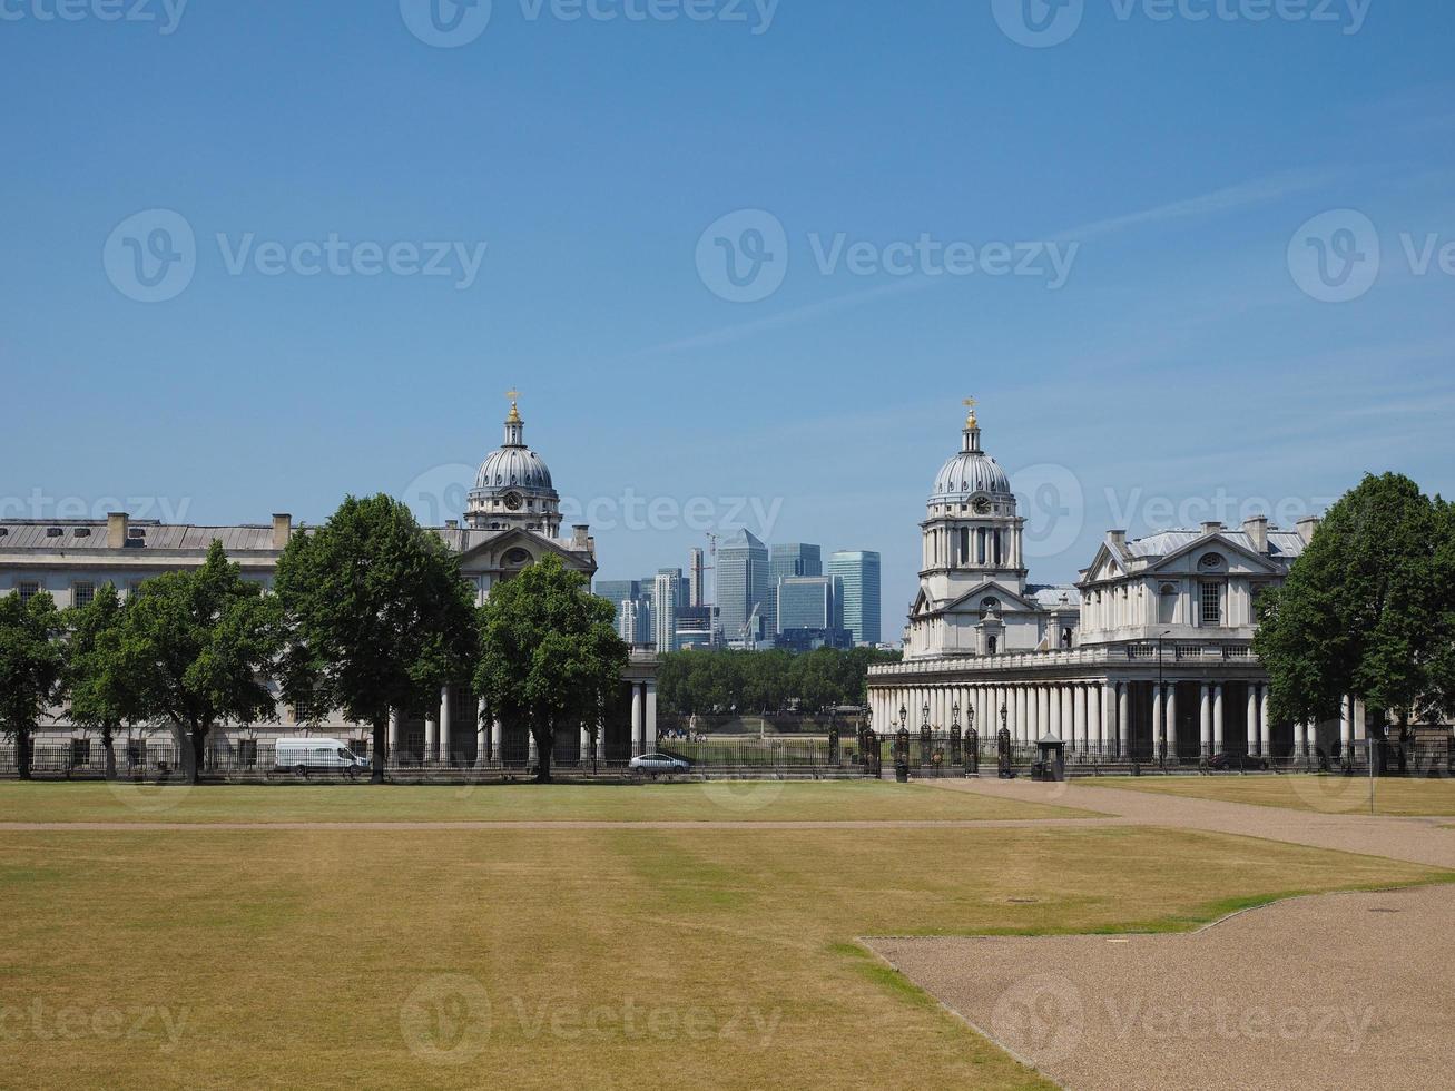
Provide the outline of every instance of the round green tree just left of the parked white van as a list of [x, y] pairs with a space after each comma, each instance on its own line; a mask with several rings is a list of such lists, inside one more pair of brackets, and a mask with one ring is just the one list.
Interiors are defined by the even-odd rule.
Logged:
[[276, 719], [265, 679], [282, 637], [278, 599], [243, 579], [220, 541], [199, 569], [143, 583], [121, 618], [119, 639], [99, 644], [105, 666], [129, 679], [141, 717], [172, 724], [189, 784], [215, 726]]

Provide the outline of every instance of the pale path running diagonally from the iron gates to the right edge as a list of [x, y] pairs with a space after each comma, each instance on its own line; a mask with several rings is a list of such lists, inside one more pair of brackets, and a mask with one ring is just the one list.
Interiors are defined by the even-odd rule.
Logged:
[[1154, 791], [1087, 787], [1075, 781], [1042, 784], [1027, 780], [930, 780], [940, 788], [972, 791], [1026, 803], [1055, 803], [1116, 815], [1126, 825], [1200, 829], [1215, 834], [1285, 841], [1311, 848], [1408, 860], [1455, 870], [1455, 829], [1449, 819], [1371, 818], [1256, 807], [1247, 803], [1187, 799]]

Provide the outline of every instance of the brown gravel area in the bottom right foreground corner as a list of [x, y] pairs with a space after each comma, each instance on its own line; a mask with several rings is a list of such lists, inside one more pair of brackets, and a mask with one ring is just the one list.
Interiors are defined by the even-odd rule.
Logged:
[[867, 943], [1067, 1087], [1388, 1091], [1449, 1087], [1452, 919], [1455, 887], [1438, 886], [1299, 898], [1187, 935]]

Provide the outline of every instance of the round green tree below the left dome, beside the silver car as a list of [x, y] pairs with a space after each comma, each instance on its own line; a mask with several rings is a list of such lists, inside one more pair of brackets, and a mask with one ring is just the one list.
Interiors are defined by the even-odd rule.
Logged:
[[554, 556], [495, 586], [480, 610], [476, 690], [503, 722], [535, 738], [540, 781], [550, 780], [557, 732], [595, 732], [627, 666], [614, 617], [589, 579]]

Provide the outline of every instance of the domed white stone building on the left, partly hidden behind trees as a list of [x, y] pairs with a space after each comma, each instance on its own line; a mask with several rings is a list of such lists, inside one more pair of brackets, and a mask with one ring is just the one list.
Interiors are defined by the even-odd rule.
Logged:
[[[560, 537], [560, 497], [546, 463], [525, 445], [524, 422], [515, 401], [505, 422], [505, 442], [482, 463], [470, 492], [464, 525], [450, 521], [431, 528], [460, 559], [460, 575], [485, 602], [490, 588], [515, 576], [547, 554], [567, 569], [594, 576], [595, 543], [586, 527], [572, 527]], [[223, 543], [228, 560], [246, 579], [271, 586], [278, 557], [295, 527], [290, 515], [274, 515], [269, 524], [194, 527], [131, 519], [115, 512], [100, 521], [17, 519], [0, 521], [0, 594], [49, 592], [57, 605], [89, 602], [96, 588], [112, 583], [122, 595], [132, 594], [153, 576], [198, 567], [214, 540]], [[623, 678], [621, 716], [605, 726], [605, 758], [624, 761], [656, 742], [656, 659], [633, 653]], [[86, 749], [87, 735], [58, 719], [36, 738], [38, 752], [70, 745]], [[314, 733], [342, 738], [356, 752], [367, 754], [368, 724], [330, 717], [303, 723], [279, 704], [276, 723], [227, 724], [211, 740], [214, 756], [236, 754], [240, 742], [268, 743], [282, 735]], [[134, 735], [167, 743], [166, 724], [138, 726]], [[467, 685], [445, 687], [438, 708], [423, 714], [396, 713], [388, 729], [390, 754], [396, 761], [422, 765], [499, 767], [534, 761], [534, 742], [524, 729], [492, 720]], [[99, 752], [99, 743], [95, 748]], [[265, 746], [266, 749], [266, 746]], [[572, 765], [589, 756], [588, 733], [579, 739], [557, 739], [554, 762]], [[601, 756], [601, 755], [598, 755]]]

